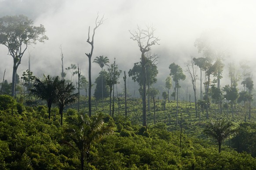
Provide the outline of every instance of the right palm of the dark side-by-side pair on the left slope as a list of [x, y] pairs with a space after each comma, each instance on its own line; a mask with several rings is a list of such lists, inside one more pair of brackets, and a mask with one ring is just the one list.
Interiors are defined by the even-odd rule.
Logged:
[[67, 83], [65, 80], [61, 80], [59, 86], [57, 87], [56, 100], [54, 103], [59, 108], [59, 114], [61, 116], [61, 125], [63, 118], [63, 109], [72, 104], [77, 100], [78, 93], [73, 94], [75, 87], [72, 83]]

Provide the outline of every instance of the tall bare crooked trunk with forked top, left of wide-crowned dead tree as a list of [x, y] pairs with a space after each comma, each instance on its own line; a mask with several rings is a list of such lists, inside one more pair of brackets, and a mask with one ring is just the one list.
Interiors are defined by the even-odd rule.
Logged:
[[88, 39], [86, 42], [88, 42], [90, 45], [91, 45], [91, 52], [90, 53], [85, 53], [86, 56], [88, 57], [89, 59], [89, 99], [88, 99], [88, 104], [89, 104], [89, 116], [91, 117], [91, 56], [92, 56], [92, 53], [93, 53], [93, 49], [94, 49], [94, 36], [95, 36], [95, 30], [100, 26], [102, 25], [103, 23], [103, 18], [104, 16], [99, 19], [99, 14], [97, 13], [97, 18], [95, 19], [95, 27], [93, 29], [93, 33], [92, 33], [92, 37], [91, 37], [91, 41], [90, 41], [90, 26], [89, 26], [89, 29], [88, 29]]

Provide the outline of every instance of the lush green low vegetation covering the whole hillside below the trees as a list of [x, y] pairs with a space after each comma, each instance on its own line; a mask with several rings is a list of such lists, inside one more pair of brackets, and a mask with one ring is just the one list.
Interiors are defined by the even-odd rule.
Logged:
[[[61, 126], [60, 115], [57, 114], [55, 120], [48, 119], [46, 106], [29, 107], [19, 103], [23, 111], [18, 112], [18, 102], [6, 105], [2, 101], [7, 96], [1, 97], [0, 104], [4, 109], [0, 111], [0, 169], [3, 170], [75, 170], [81, 169], [81, 158], [85, 160], [83, 167], [87, 170], [256, 169], [256, 125], [242, 123], [243, 108], [238, 105], [234, 108], [234, 118], [224, 110], [219, 115], [215, 114], [214, 109], [209, 109], [209, 117], [224, 119], [223, 122], [230, 120], [234, 124], [231, 130], [236, 130], [235, 134], [230, 135], [230, 140], [223, 139], [219, 153], [215, 139], [207, 138], [203, 133], [210, 120], [202, 115], [199, 123], [194, 104], [187, 104], [186, 107], [185, 102], [179, 101], [179, 112], [183, 112], [182, 142], [179, 147], [176, 101], [166, 102], [164, 111], [162, 101], [156, 99], [156, 124], [154, 114], [148, 114], [147, 127], [140, 126], [141, 99], [127, 100], [128, 113], [125, 117], [124, 98], [120, 98], [120, 114], [116, 114], [114, 119], [107, 110], [96, 116], [96, 105], [93, 105], [91, 118], [82, 116], [88, 113], [87, 106], [82, 115], [75, 109], [64, 110]], [[81, 103], [87, 100], [81, 98]], [[107, 100], [104, 105], [108, 105]], [[154, 102], [150, 107], [154, 107]], [[58, 113], [59, 110], [53, 107], [51, 112]], [[252, 108], [251, 122], [255, 121], [254, 113], [255, 109]], [[97, 119], [99, 116], [102, 118]], [[93, 128], [100, 130], [101, 135], [97, 136], [98, 132]]]

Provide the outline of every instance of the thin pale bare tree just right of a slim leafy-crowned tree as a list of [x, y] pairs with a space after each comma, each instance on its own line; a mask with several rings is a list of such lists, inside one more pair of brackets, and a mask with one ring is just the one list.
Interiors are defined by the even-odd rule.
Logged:
[[195, 68], [195, 61], [193, 59], [188, 60], [185, 65], [187, 66], [186, 72], [189, 73], [192, 86], [194, 90], [194, 99], [195, 99], [195, 109], [196, 109], [196, 117], [197, 117], [197, 96], [196, 96], [196, 80], [197, 80], [197, 69]]

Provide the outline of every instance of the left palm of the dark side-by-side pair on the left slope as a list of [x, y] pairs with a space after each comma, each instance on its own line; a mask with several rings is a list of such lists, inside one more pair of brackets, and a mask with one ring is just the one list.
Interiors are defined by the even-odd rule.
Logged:
[[59, 76], [50, 77], [44, 76], [43, 80], [36, 78], [33, 87], [30, 89], [30, 94], [37, 98], [47, 101], [48, 118], [51, 117], [51, 105], [56, 99], [56, 90], [59, 83]]

